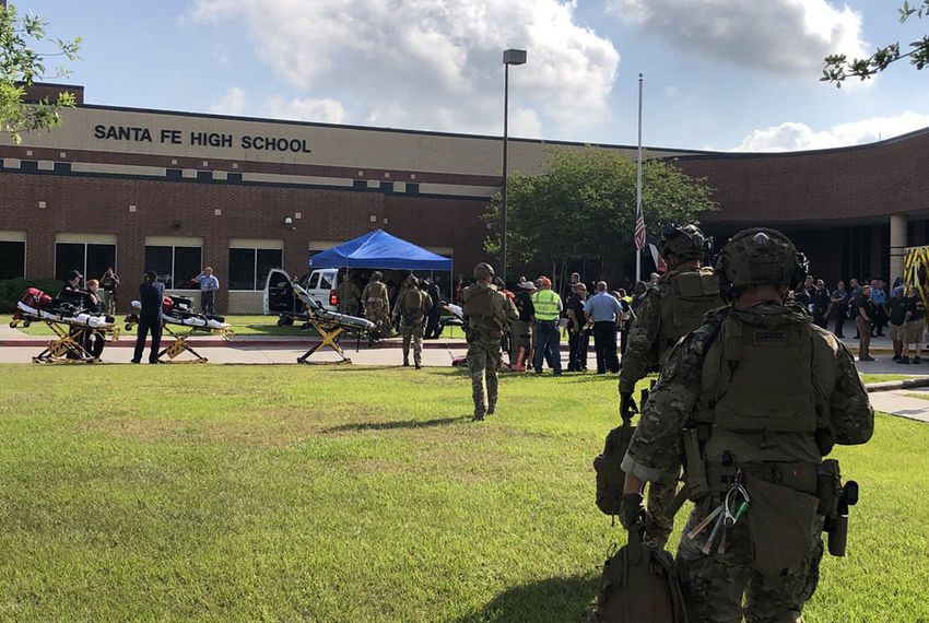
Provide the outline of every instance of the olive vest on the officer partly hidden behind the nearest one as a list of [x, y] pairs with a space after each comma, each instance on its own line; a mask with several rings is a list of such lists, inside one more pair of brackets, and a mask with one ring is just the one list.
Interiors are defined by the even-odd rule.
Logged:
[[722, 305], [719, 280], [712, 268], [687, 270], [668, 277], [661, 287], [661, 326], [658, 329], [655, 356], [665, 366], [668, 353], [678, 340], [703, 325], [710, 309]]

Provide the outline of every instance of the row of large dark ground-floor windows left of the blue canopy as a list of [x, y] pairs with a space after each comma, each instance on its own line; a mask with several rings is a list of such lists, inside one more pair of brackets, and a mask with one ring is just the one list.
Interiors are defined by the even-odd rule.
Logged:
[[[230, 290], [263, 290], [268, 272], [283, 266], [281, 249], [231, 248]], [[107, 268], [117, 269], [116, 245], [98, 243], [56, 243], [55, 278], [64, 281], [72, 270], [86, 279], [99, 279]], [[203, 268], [203, 249], [190, 246], [146, 245], [145, 271], [154, 270], [167, 289], [198, 287], [193, 278]], [[26, 244], [0, 240], [0, 280], [25, 277]]]

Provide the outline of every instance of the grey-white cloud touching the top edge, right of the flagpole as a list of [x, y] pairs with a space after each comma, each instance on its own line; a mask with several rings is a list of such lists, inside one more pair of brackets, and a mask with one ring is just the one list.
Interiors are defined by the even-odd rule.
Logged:
[[816, 73], [823, 57], [867, 56], [861, 16], [826, 0], [609, 0], [624, 22], [687, 54], [778, 73]]

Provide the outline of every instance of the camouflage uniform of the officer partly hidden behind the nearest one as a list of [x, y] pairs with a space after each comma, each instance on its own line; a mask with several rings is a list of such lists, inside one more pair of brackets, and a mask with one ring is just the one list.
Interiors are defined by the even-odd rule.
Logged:
[[[679, 279], [698, 278], [701, 274], [712, 274], [709, 268], [672, 270], [658, 280], [658, 283], [646, 290], [642, 303], [636, 310], [636, 319], [632, 324], [626, 338], [626, 352], [623, 353], [623, 367], [620, 369], [620, 395], [632, 393], [635, 385], [656, 366], [665, 364], [668, 352], [683, 336], [674, 331], [662, 331], [662, 302], [674, 296], [673, 284]], [[714, 278], [715, 280], [715, 278]], [[722, 305], [722, 299], [714, 297], [710, 303], [699, 305], [701, 315], [712, 308]], [[666, 308], [668, 306], [666, 305]], [[666, 316], [667, 316], [666, 312]], [[663, 320], [668, 321], [667, 318]], [[667, 328], [666, 328], [667, 329]], [[662, 341], [662, 333], [667, 336]], [[648, 487], [649, 527], [648, 536], [657, 544], [663, 545], [671, 536], [674, 527], [662, 509], [667, 508], [674, 497], [675, 483], [652, 483]]]

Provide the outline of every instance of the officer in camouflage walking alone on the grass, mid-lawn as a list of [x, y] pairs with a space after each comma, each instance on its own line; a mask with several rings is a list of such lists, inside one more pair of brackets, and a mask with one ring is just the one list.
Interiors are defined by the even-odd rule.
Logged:
[[[474, 420], [493, 415], [497, 403], [497, 367], [506, 326], [519, 318], [516, 306], [491, 283], [494, 269], [481, 262], [474, 267], [474, 285], [465, 289], [465, 330], [468, 337], [468, 369]], [[486, 388], [486, 389], [485, 389]]]

